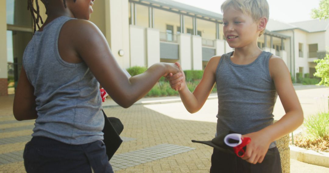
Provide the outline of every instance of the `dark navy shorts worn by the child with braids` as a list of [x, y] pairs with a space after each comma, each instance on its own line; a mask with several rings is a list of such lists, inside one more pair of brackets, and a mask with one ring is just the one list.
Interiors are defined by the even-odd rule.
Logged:
[[25, 145], [26, 172], [113, 173], [103, 141], [70, 145], [46, 137], [33, 137]]

